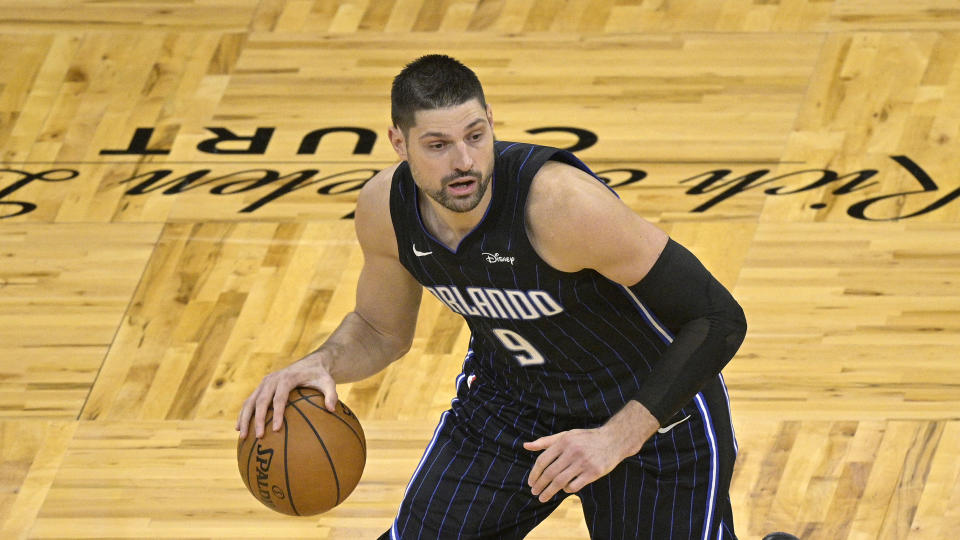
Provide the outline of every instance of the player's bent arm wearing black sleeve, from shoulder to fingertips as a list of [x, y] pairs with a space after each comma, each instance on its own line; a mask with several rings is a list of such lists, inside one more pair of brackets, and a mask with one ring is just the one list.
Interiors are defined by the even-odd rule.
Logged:
[[551, 266], [596, 270], [629, 289], [673, 334], [636, 396], [604, 426], [527, 443], [538, 456], [529, 483], [547, 501], [610, 472], [665, 425], [733, 358], [743, 310], [695, 256], [641, 218], [606, 186], [548, 162], [531, 187], [528, 236]]

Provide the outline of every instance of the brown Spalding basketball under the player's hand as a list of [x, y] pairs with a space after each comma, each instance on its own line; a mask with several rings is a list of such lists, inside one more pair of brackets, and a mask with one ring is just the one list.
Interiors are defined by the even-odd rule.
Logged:
[[250, 493], [282, 514], [310, 516], [343, 502], [357, 487], [367, 460], [367, 443], [356, 415], [337, 402], [331, 413], [323, 394], [295, 388], [287, 398], [283, 426], [273, 431], [268, 411], [262, 439], [237, 442], [237, 465]]

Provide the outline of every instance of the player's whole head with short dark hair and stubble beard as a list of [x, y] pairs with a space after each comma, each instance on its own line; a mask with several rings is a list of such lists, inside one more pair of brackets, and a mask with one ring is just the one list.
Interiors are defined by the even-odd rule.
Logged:
[[477, 76], [429, 55], [393, 81], [390, 142], [417, 186], [454, 212], [476, 208], [493, 176], [493, 113]]

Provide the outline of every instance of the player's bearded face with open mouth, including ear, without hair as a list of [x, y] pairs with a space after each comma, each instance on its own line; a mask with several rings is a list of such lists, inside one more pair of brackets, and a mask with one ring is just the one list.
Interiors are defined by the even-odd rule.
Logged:
[[479, 100], [446, 109], [417, 111], [406, 134], [391, 128], [400, 159], [417, 186], [454, 212], [480, 204], [493, 176], [493, 115]]

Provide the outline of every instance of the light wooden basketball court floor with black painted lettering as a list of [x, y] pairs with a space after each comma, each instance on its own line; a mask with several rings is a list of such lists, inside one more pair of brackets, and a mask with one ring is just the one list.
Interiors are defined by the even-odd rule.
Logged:
[[0, 538], [387, 529], [469, 337], [432, 297], [340, 388], [369, 460], [334, 511], [260, 505], [233, 424], [352, 308], [356, 190], [431, 52], [744, 306], [741, 539], [960, 537], [957, 0], [0, 0]]

